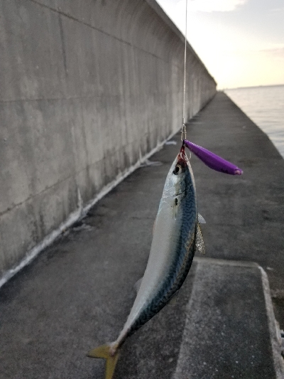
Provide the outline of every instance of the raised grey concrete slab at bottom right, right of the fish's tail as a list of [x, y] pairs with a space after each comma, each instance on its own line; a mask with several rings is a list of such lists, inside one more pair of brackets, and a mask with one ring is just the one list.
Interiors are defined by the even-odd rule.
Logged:
[[284, 378], [266, 273], [199, 260], [174, 379]]

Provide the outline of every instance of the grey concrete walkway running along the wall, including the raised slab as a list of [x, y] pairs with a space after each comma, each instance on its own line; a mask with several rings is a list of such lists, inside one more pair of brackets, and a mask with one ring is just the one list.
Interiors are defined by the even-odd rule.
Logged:
[[[284, 160], [222, 92], [188, 131], [244, 175], [217, 173], [192, 156], [207, 256], [195, 260], [177, 303], [126, 341], [115, 378], [280, 379], [258, 265], [283, 323]], [[1, 288], [1, 379], [104, 378], [103, 361], [85, 354], [116, 338], [126, 321], [179, 144], [166, 145], [151, 159], [160, 166], [131, 174]]]

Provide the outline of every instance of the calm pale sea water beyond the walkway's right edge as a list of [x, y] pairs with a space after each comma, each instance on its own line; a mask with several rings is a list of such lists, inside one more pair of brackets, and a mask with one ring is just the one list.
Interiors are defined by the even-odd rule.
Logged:
[[284, 85], [224, 92], [268, 135], [284, 158]]

